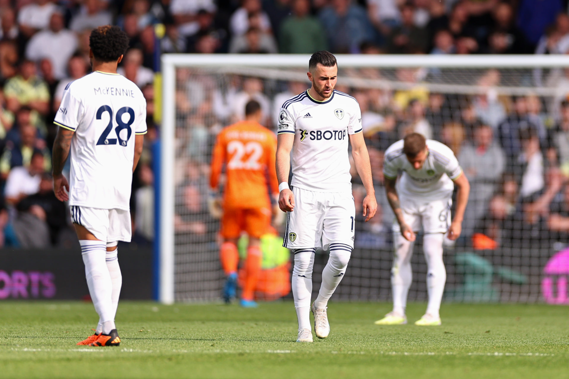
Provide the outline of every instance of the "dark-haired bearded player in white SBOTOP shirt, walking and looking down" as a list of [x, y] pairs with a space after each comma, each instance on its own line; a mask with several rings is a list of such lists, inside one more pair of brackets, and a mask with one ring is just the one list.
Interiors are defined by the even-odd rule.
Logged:
[[[334, 90], [338, 69], [331, 53], [314, 53], [308, 69], [311, 88], [284, 102], [277, 130], [279, 207], [288, 212], [283, 246], [294, 251], [292, 294], [298, 316], [297, 342], [312, 342], [311, 310], [316, 336], [328, 336], [328, 299], [342, 280], [352, 253], [355, 207], [348, 139], [367, 192], [363, 202], [365, 220], [377, 210], [368, 149], [361, 132], [360, 106], [350, 95]], [[329, 248], [330, 255], [311, 308], [314, 253], [320, 247]]]

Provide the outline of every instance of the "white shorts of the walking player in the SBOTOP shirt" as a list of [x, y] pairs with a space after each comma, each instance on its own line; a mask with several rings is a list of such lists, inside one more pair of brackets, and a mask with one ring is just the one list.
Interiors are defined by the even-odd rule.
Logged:
[[287, 213], [283, 246], [324, 248], [331, 243], [354, 245], [356, 207], [352, 192], [314, 192], [292, 188], [294, 211]]

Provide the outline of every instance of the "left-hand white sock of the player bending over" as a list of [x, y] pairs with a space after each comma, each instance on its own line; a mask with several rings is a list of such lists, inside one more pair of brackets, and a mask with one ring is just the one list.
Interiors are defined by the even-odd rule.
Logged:
[[395, 257], [393, 258], [393, 268], [391, 268], [391, 288], [393, 290], [393, 311], [405, 315], [407, 306], [407, 293], [413, 281], [411, 271], [411, 256], [413, 255], [413, 245], [407, 241], [401, 233], [393, 233], [395, 244]]

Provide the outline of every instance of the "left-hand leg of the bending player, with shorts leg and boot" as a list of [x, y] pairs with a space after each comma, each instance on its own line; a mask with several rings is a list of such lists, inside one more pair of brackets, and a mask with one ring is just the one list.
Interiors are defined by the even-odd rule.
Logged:
[[[410, 199], [401, 198], [403, 206], [403, 217], [405, 222], [415, 232], [420, 228], [420, 217], [417, 214], [415, 205]], [[399, 224], [393, 224], [393, 245], [394, 257], [393, 267], [391, 268], [391, 291], [393, 295], [393, 311], [386, 314], [384, 318], [377, 320], [377, 325], [399, 325], [406, 324], [407, 317], [405, 310], [407, 307], [407, 295], [413, 281], [413, 271], [411, 270], [411, 256], [413, 256], [414, 242], [406, 240], [401, 235]]]

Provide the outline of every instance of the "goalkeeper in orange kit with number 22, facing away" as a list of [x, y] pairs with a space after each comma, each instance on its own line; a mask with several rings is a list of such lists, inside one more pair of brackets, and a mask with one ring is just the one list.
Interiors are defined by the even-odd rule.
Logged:
[[269, 188], [278, 196], [275, 152], [277, 138], [259, 124], [261, 106], [251, 100], [245, 106], [245, 120], [230, 125], [217, 136], [213, 148], [209, 185], [216, 191], [225, 165], [226, 181], [222, 199], [221, 266], [227, 276], [223, 297], [229, 302], [236, 295], [239, 253], [237, 240], [242, 232], [249, 236], [245, 260], [245, 280], [241, 305], [256, 307], [254, 290], [261, 272], [260, 238], [271, 223]]

